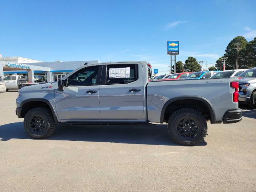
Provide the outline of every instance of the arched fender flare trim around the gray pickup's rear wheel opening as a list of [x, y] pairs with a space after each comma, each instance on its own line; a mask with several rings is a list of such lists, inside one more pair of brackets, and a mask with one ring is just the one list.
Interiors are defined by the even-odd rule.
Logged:
[[187, 99], [190, 99], [190, 100], [198, 100], [198, 101], [204, 102], [204, 103], [206, 104], [206, 106], [208, 106], [208, 108], [209, 108], [209, 110], [210, 110], [210, 114], [211, 114], [211, 123], [212, 123], [212, 124], [217, 123], [217, 122], [216, 122], [216, 117], [215, 117], [215, 113], [214, 113], [212, 104], [211, 104], [208, 100], [206, 100], [205, 98], [203, 98], [203, 97], [201, 97], [201, 96], [178, 96], [178, 97], [171, 98], [170, 100], [168, 100], [168, 101], [164, 104], [164, 106], [163, 106], [163, 108], [162, 108], [161, 117], [160, 117], [160, 123], [163, 123], [163, 122], [164, 122], [164, 114], [165, 114], [166, 108], [167, 108], [172, 102], [180, 101], [180, 100], [187, 100]]

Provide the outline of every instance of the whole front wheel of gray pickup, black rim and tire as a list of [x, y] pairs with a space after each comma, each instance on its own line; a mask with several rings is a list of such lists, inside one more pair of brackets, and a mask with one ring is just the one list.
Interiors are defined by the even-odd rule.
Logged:
[[27, 112], [24, 118], [24, 128], [32, 138], [44, 139], [54, 133], [56, 123], [48, 108], [37, 107]]

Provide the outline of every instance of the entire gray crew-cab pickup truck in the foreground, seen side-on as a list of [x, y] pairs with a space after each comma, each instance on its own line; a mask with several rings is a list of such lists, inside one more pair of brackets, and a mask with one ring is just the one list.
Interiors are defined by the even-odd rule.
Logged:
[[58, 82], [22, 88], [16, 114], [35, 139], [52, 135], [57, 124], [168, 124], [171, 139], [197, 145], [206, 121], [234, 123], [238, 79], [152, 81], [148, 62], [88, 64]]

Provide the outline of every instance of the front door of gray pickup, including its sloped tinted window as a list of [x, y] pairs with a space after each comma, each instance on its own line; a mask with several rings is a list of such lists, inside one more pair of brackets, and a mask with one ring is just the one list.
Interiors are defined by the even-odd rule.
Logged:
[[56, 90], [55, 106], [61, 120], [100, 119], [101, 69], [102, 66], [82, 68], [68, 77], [63, 92]]

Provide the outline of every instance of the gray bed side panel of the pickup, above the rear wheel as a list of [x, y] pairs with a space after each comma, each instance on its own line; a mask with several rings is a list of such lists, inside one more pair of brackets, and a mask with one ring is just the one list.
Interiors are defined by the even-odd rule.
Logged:
[[237, 109], [230, 82], [238, 79], [176, 80], [149, 82], [147, 86], [148, 120], [160, 122], [163, 106], [173, 98], [201, 98], [212, 106], [215, 121], [222, 121], [227, 110]]

